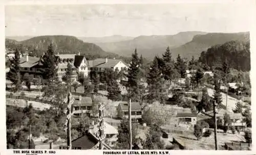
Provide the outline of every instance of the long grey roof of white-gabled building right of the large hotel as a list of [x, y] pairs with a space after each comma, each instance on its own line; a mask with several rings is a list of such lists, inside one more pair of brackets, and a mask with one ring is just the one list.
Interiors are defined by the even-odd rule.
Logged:
[[107, 62], [106, 62], [106, 59], [95, 59], [95, 60], [89, 61], [89, 66], [98, 67], [98, 68], [112, 68], [112, 67], [115, 67], [115, 65], [120, 61], [124, 63], [121, 59], [108, 59]]

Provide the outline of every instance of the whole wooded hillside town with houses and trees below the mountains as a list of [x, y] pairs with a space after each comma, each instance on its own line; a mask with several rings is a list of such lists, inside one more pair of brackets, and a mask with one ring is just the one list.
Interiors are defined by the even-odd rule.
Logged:
[[218, 149], [251, 148], [250, 81], [226, 61], [204, 69], [169, 48], [152, 62], [136, 49], [130, 63], [89, 60], [52, 44], [6, 61], [8, 148], [215, 149], [215, 134]]

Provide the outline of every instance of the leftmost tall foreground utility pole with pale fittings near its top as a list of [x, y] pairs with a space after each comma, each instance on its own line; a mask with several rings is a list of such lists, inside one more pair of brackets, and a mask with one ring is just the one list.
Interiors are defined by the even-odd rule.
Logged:
[[71, 117], [74, 115], [74, 109], [72, 109], [72, 104], [74, 102], [74, 98], [72, 97], [72, 94], [69, 92], [68, 97], [64, 100], [65, 104], [68, 104], [67, 109], [65, 110], [65, 114], [67, 114], [67, 120], [65, 123], [65, 129], [64, 131], [67, 130], [67, 149], [72, 149], [72, 144], [71, 144]]

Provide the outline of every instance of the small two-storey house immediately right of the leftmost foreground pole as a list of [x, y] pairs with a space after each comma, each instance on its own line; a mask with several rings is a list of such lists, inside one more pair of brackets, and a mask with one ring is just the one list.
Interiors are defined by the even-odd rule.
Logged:
[[75, 109], [74, 116], [81, 116], [82, 114], [90, 116], [92, 113], [92, 98], [79, 96], [79, 98], [75, 98], [72, 106]]

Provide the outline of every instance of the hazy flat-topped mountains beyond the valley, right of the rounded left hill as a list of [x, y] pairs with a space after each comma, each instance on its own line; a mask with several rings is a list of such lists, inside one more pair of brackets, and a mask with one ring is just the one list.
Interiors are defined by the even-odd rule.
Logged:
[[175, 35], [138, 36], [132, 40], [119, 42], [96, 42], [104, 51], [113, 52], [123, 56], [131, 56], [135, 48], [139, 54], [147, 59], [161, 56], [165, 49], [171, 49], [173, 57], [180, 54], [190, 59], [199, 57], [202, 51], [211, 46], [223, 44], [227, 41], [248, 41], [249, 32], [241, 33], [206, 33], [206, 32], [181, 32]]

